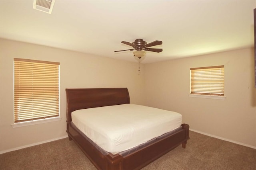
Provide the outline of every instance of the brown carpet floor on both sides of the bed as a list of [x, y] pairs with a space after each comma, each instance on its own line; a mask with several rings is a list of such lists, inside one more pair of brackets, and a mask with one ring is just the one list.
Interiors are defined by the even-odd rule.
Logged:
[[[0, 170], [96, 170], [68, 138], [0, 155]], [[256, 170], [256, 149], [190, 131], [181, 146], [142, 170]]]

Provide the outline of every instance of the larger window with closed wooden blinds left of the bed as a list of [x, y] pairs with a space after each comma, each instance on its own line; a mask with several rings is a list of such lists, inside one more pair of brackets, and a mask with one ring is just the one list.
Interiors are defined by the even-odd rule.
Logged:
[[14, 58], [14, 123], [59, 117], [59, 66]]

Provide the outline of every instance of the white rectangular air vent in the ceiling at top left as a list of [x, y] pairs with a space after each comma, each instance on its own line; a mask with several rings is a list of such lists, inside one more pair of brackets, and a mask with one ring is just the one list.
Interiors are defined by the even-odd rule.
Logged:
[[34, 0], [33, 9], [51, 14], [54, 2], [55, 0]]

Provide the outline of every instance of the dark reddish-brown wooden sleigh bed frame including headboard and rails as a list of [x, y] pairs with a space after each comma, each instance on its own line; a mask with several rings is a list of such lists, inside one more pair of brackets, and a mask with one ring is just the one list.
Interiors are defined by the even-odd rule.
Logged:
[[182, 124], [182, 129], [164, 137], [142, 149], [126, 156], [120, 154], [102, 154], [92, 143], [82, 136], [71, 123], [71, 112], [92, 107], [129, 104], [130, 97], [127, 88], [90, 88], [66, 89], [67, 97], [67, 130], [68, 137], [86, 154], [99, 170], [136, 170], [182, 144], [186, 147], [189, 139], [189, 126]]

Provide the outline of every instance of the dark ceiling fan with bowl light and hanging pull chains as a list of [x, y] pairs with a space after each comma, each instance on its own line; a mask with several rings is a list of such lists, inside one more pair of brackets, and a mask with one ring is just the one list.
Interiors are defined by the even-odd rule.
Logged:
[[[143, 41], [143, 39], [135, 39], [133, 43], [127, 42], [127, 41], [121, 41], [121, 43], [130, 45], [133, 47], [133, 49], [127, 49], [127, 50], [119, 50], [119, 51], [114, 51], [114, 52], [120, 52], [120, 51], [134, 51], [133, 54], [135, 57], [139, 58], [139, 71], [140, 71], [140, 59], [141, 57], [144, 57], [146, 55], [145, 51], [152, 51], [156, 53], [160, 53], [163, 51], [163, 49], [153, 49], [153, 48], [148, 48], [152, 47], [155, 45], [161, 45], [162, 41], [153, 41], [151, 43], [147, 43], [146, 41]], [[144, 51], [142, 51], [144, 50]]]

